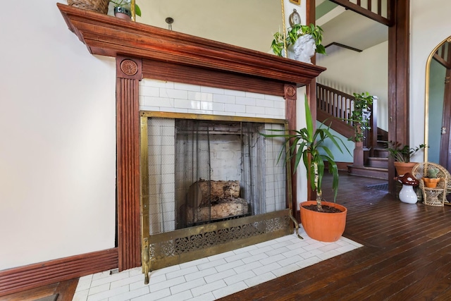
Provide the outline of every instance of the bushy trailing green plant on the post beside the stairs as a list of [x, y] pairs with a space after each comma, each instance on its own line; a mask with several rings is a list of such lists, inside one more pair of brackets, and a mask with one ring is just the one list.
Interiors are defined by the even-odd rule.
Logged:
[[351, 114], [352, 123], [354, 125], [354, 137], [350, 140], [359, 142], [364, 139], [364, 130], [369, 130], [369, 115], [371, 113], [370, 106], [373, 104], [374, 97], [368, 92], [362, 92], [362, 94], [353, 93], [354, 95], [354, 110]]

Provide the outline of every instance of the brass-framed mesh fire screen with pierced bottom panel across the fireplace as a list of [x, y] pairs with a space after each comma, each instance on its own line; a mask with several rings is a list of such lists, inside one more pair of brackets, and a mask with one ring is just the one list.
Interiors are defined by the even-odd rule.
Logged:
[[[143, 271], [292, 233], [286, 123], [141, 113]], [[195, 118], [195, 119], [194, 119]]]

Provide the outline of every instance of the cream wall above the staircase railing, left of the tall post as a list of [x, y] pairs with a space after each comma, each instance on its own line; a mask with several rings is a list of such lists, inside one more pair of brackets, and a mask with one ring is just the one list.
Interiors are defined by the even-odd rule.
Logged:
[[347, 94], [369, 92], [378, 97], [378, 128], [388, 130], [388, 42], [362, 52], [329, 47], [316, 55], [316, 64], [327, 68], [317, 82]]

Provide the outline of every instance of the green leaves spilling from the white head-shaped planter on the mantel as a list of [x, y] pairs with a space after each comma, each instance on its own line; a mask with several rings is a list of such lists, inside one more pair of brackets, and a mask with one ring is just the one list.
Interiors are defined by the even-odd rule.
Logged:
[[[293, 25], [293, 27], [288, 30], [287, 37], [285, 39], [287, 47], [294, 45], [297, 39], [302, 35], [311, 35], [316, 44], [316, 52], [319, 54], [326, 54], [326, 48], [324, 48], [324, 46], [321, 44], [321, 40], [323, 39], [323, 29], [313, 24]], [[271, 49], [273, 49], [273, 53], [277, 56], [283, 56], [283, 33], [280, 31], [276, 32], [273, 37], [274, 39], [271, 43]]]

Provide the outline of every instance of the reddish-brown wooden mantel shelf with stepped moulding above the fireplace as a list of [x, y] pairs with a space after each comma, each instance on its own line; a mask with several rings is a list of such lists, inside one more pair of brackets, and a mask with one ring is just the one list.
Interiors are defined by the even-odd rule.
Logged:
[[[132, 56], [308, 85], [326, 68], [56, 4], [91, 54]], [[271, 41], [268, 41], [268, 45]]]

